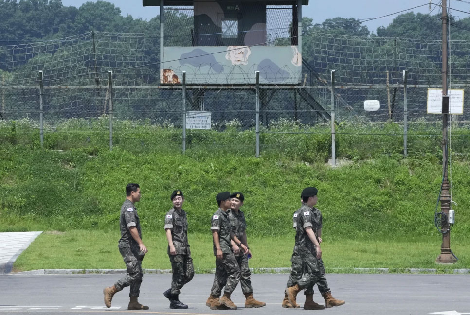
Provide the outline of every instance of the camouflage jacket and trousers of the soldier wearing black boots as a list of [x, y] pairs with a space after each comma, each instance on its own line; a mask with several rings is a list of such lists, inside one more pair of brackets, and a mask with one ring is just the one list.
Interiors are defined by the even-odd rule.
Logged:
[[171, 294], [179, 295], [180, 289], [194, 277], [193, 259], [188, 244], [188, 220], [186, 212], [171, 208], [165, 216], [165, 230], [171, 230], [173, 245], [176, 255], [170, 255], [168, 245], [168, 257], [170, 258], [173, 278], [171, 280]]

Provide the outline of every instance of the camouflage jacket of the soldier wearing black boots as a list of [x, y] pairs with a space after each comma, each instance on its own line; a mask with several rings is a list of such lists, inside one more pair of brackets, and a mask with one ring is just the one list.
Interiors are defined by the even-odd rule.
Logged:
[[[186, 218], [186, 212], [171, 208], [166, 212], [165, 216], [165, 230], [171, 230], [171, 237], [173, 239], [173, 245], [175, 246], [176, 253], [178, 255], [189, 254], [188, 244], [188, 220]], [[170, 254], [170, 245], [168, 245], [168, 254]]]

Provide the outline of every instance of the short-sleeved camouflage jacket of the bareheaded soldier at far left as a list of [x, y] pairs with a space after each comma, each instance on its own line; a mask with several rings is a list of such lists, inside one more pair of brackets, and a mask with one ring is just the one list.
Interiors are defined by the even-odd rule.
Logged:
[[119, 218], [119, 225], [121, 228], [121, 239], [119, 240], [119, 247], [128, 247], [133, 251], [139, 251], [139, 244], [130, 235], [129, 227], [136, 227], [139, 232], [139, 237], [142, 238], [142, 231], [140, 228], [140, 219], [137, 214], [137, 208], [134, 204], [126, 199], [121, 207], [121, 216]]

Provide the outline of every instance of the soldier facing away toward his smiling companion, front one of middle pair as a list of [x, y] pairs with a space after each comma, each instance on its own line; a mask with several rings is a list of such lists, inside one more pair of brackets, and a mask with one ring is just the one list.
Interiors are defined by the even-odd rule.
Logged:
[[[230, 211], [230, 192], [220, 192], [216, 197], [218, 210], [212, 216], [212, 237], [214, 241], [214, 256], [216, 256], [216, 274], [211, 289], [211, 295], [206, 305], [211, 309], [229, 308], [236, 309], [236, 305], [230, 299], [232, 292], [240, 281], [240, 267], [232, 251], [231, 240], [235, 242], [244, 253], [248, 248], [232, 232], [228, 211]], [[225, 286], [224, 295], [220, 297], [222, 288]]]

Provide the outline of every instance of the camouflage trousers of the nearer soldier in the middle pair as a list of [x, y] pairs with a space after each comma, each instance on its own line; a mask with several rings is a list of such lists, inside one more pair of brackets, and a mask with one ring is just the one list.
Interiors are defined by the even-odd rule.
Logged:
[[227, 293], [234, 292], [239, 281], [240, 266], [234, 254], [223, 254], [222, 259], [216, 259], [216, 275], [211, 289], [213, 296], [220, 296], [223, 287]]

